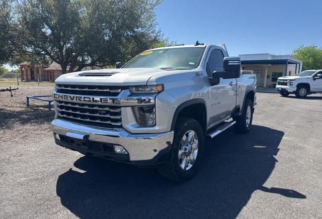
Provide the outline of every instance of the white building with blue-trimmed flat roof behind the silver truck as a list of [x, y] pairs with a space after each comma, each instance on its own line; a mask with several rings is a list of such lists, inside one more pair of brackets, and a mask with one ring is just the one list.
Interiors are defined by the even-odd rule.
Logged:
[[290, 55], [259, 53], [239, 57], [244, 70], [254, 70], [260, 87], [274, 87], [278, 77], [293, 76], [302, 70], [302, 61]]

